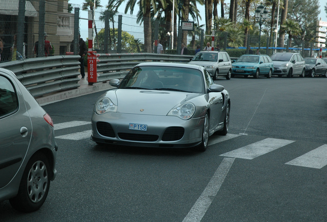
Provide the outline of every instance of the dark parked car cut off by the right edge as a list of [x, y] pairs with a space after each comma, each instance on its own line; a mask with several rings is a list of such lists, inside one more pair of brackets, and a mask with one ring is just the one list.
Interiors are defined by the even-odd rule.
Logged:
[[304, 58], [305, 75], [308, 77], [327, 77], [327, 64], [319, 58]]

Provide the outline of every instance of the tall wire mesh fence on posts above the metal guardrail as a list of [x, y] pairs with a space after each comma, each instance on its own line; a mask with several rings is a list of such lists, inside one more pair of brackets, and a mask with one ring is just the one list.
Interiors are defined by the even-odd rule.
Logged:
[[[1, 0], [0, 62], [65, 55], [73, 51], [70, 46], [74, 39], [78, 43], [78, 32], [84, 28], [81, 20], [88, 19], [80, 16], [81, 11], [82, 4], [73, 5], [72, 12], [68, 12], [66, 0]], [[160, 40], [163, 53], [178, 54], [178, 22], [173, 26], [171, 21], [162, 18], [149, 19], [150, 23], [146, 20], [146, 25], [151, 26], [149, 29], [144, 28], [143, 19], [136, 15], [95, 10], [93, 49], [99, 53], [156, 52], [157, 40]], [[204, 35], [204, 30], [197, 27], [193, 31], [183, 31], [181, 35], [181, 42], [187, 46], [189, 55], [195, 54], [197, 47], [203, 49], [207, 42], [211, 45], [211, 41], [211, 36]], [[248, 52], [249, 47], [258, 48], [259, 42], [260, 52], [268, 55], [275, 51], [293, 51], [303, 57], [316, 57], [319, 53], [312, 42], [300, 42], [292, 48], [274, 48], [274, 41], [274, 36], [261, 35], [259, 41], [258, 35], [246, 37], [216, 31], [214, 46], [226, 50], [231, 57], [239, 57]], [[323, 51], [322, 56], [325, 54]]]

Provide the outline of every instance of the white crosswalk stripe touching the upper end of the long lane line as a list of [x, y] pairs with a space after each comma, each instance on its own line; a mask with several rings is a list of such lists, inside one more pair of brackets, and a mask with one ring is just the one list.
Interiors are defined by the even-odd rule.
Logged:
[[246, 146], [243, 146], [237, 150], [233, 150], [222, 154], [221, 156], [241, 158], [241, 159], [254, 159], [271, 151], [277, 150], [282, 146], [289, 143], [293, 143], [293, 140], [274, 139], [267, 138]]

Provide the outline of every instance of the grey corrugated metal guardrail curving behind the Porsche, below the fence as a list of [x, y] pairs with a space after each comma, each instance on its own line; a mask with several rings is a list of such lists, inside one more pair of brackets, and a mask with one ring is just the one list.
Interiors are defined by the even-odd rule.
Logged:
[[[80, 86], [79, 58], [79, 55], [57, 55], [0, 63], [0, 67], [13, 71], [17, 79], [37, 98], [78, 88]], [[100, 54], [100, 62], [97, 64], [97, 82], [121, 79], [141, 62], [187, 63], [191, 58], [191, 55], [155, 53]]]

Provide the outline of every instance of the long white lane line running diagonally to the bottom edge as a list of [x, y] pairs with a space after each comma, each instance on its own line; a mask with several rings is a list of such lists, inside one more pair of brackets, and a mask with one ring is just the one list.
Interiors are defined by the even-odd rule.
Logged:
[[210, 179], [206, 189], [196, 200], [190, 212], [186, 215], [183, 222], [199, 222], [207, 212], [213, 198], [217, 195], [222, 186], [228, 171], [231, 168], [235, 158], [224, 158], [218, 169]]

